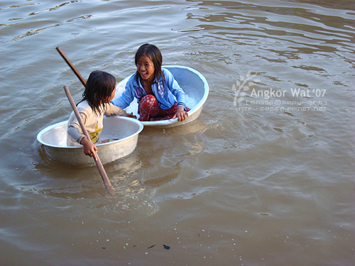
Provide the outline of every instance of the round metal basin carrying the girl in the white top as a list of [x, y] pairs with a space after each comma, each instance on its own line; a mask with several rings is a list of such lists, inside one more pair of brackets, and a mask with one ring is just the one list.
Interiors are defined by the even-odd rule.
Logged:
[[[143, 124], [133, 118], [124, 116], [104, 116], [104, 128], [101, 140], [118, 139], [109, 143], [97, 144], [97, 153], [102, 164], [113, 162], [129, 155], [136, 148], [138, 134]], [[37, 140], [43, 144], [45, 152], [53, 160], [67, 165], [91, 165], [94, 159], [84, 155], [82, 147], [67, 146], [67, 121], [56, 123], [40, 131]]]

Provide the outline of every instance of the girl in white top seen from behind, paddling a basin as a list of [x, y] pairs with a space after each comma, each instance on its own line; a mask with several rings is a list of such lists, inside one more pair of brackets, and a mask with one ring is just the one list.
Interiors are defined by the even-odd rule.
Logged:
[[94, 143], [100, 143], [99, 135], [103, 128], [104, 116], [119, 115], [134, 117], [123, 109], [109, 102], [114, 99], [116, 92], [116, 79], [107, 72], [96, 70], [89, 75], [87, 86], [82, 94], [82, 101], [77, 104], [80, 118], [90, 135], [87, 140], [80, 124], [77, 121], [74, 111], [71, 113], [67, 124], [67, 145], [82, 145], [85, 155], [94, 156], [97, 147]]

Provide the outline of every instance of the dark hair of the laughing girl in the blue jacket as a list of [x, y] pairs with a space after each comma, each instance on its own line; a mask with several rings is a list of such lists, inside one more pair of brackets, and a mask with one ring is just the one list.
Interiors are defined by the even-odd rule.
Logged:
[[[158, 80], [159, 77], [164, 78], [163, 71], [161, 71], [161, 65], [163, 63], [163, 57], [158, 47], [155, 45], [151, 45], [149, 43], [141, 45], [136, 52], [136, 57], [134, 63], [137, 65], [137, 62], [141, 56], [146, 55], [151, 58], [153, 65], [154, 65], [154, 77]], [[137, 78], [138, 78], [138, 71], [137, 71]]]

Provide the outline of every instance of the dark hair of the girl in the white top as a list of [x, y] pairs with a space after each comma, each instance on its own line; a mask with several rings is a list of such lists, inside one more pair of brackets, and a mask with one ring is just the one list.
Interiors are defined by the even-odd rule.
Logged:
[[[92, 110], [97, 113], [105, 111], [104, 104], [108, 102], [114, 88], [116, 79], [107, 72], [95, 70], [87, 79], [87, 86], [82, 93], [82, 101], [87, 100]], [[81, 102], [81, 101], [80, 101]]]

